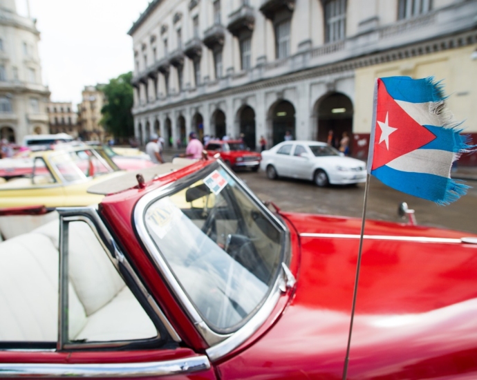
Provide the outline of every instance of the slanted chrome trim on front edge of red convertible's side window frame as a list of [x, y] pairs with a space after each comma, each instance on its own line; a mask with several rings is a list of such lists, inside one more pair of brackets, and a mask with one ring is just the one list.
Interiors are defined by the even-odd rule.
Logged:
[[[156, 313], [156, 315], [158, 316], [158, 318], [164, 325], [165, 329], [171, 336], [171, 339], [173, 339], [174, 341], [178, 343], [181, 342], [182, 339], [180, 339], [179, 334], [176, 332], [174, 327], [166, 318], [165, 314], [160, 309], [158, 303], [156, 303], [154, 298], [147, 291], [146, 287], [144, 287], [144, 284], [142, 283], [138, 275], [133, 270], [133, 267], [131, 267], [131, 264], [129, 263], [127, 258], [120, 251], [118, 245], [115, 243], [115, 240], [113, 239], [108, 229], [104, 225], [104, 222], [101, 220], [100, 216], [98, 215], [97, 210], [94, 207], [77, 207], [74, 209], [59, 208], [57, 209], [57, 211], [59, 212], [61, 218], [64, 218], [64, 220], [66, 221], [73, 221], [73, 220], [83, 221], [83, 222], [86, 222], [91, 227], [97, 240], [99, 240], [100, 244], [104, 248], [104, 251], [106, 251], [106, 254], [108, 255], [111, 262], [113, 263], [114, 267], [118, 270], [118, 273], [120, 274], [119, 263], [121, 263], [124, 266], [124, 268], [127, 270], [127, 272], [129, 273], [131, 278], [133, 279], [135, 285], [138, 287], [138, 289], [140, 289], [140, 292], [142, 292], [142, 295], [147, 300], [152, 310]], [[78, 213], [82, 213], [83, 215], [78, 215]], [[88, 217], [85, 215], [88, 215]], [[104, 239], [106, 241], [104, 241], [104, 239], [100, 235], [99, 231], [97, 230], [98, 228], [100, 229], [102, 236], [104, 236]], [[109, 243], [109, 247], [107, 243]], [[84, 343], [82, 344], [82, 347], [84, 347]]]

